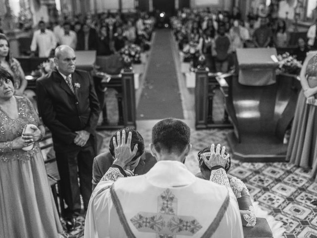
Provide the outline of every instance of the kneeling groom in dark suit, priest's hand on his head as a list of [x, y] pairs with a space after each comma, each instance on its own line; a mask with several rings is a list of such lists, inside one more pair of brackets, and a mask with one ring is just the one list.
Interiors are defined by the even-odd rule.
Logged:
[[108, 169], [111, 167], [114, 161], [114, 146], [113, 138], [116, 138], [117, 134], [122, 135], [122, 130], [125, 130], [128, 134], [132, 133], [131, 148], [134, 148], [134, 145], [138, 145], [138, 151], [134, 158], [129, 162], [125, 168], [127, 176], [143, 175], [146, 174], [154, 165], [157, 163], [157, 160], [150, 152], [144, 150], [144, 140], [141, 134], [131, 128], [122, 128], [114, 133], [109, 142], [109, 152], [102, 153], [95, 157], [93, 164], [93, 190], [97, 186], [100, 179], [106, 174]]

